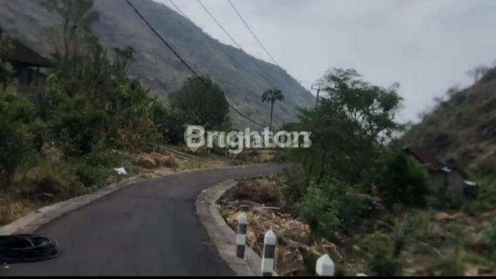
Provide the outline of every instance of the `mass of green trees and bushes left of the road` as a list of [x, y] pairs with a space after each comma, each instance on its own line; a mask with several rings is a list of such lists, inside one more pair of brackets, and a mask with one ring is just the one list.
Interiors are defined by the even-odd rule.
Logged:
[[[178, 143], [189, 121], [207, 127], [229, 124], [227, 100], [211, 79], [205, 78], [216, 95], [188, 79], [171, 108], [152, 98], [127, 73], [136, 61], [134, 50], [108, 53], [92, 34], [99, 21], [93, 1], [47, 0], [43, 6], [60, 19], [45, 28], [55, 67], [37, 105], [16, 92], [0, 91], [0, 145], [5, 151], [0, 154], [0, 189], [14, 186], [24, 197], [42, 200], [86, 194], [119, 179], [114, 167], [130, 165], [121, 154]], [[0, 51], [10, 51], [11, 44], [3, 36]], [[0, 63], [1, 81], [12, 85], [11, 65]]]

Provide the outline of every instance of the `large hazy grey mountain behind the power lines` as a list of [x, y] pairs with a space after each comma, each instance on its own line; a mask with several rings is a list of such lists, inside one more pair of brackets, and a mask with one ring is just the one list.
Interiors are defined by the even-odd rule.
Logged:
[[[43, 28], [59, 26], [61, 19], [41, 7], [41, 2], [0, 0], [0, 25], [19, 41], [49, 56], [52, 47]], [[270, 106], [260, 101], [263, 92], [269, 88], [279, 88], [285, 94], [285, 101], [275, 106], [276, 126], [295, 120], [297, 107], [314, 103], [315, 97], [277, 65], [219, 43], [162, 3], [152, 0], [134, 0], [132, 3], [192, 68], [209, 75], [224, 90], [230, 103], [259, 123], [269, 125]], [[144, 85], [151, 88], [152, 94], [166, 98], [192, 76], [125, 1], [95, 0], [94, 10], [100, 14], [100, 21], [93, 26], [94, 34], [106, 48], [134, 48], [136, 62], [130, 68], [130, 74], [138, 76]], [[220, 52], [215, 44], [252, 75]], [[231, 116], [240, 127], [249, 125], [235, 112], [231, 111]]]

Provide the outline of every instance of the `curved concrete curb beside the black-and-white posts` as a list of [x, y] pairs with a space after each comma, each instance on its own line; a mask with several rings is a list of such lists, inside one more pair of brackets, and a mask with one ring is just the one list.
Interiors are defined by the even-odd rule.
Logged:
[[260, 276], [262, 259], [249, 246], [246, 247], [245, 260], [236, 257], [236, 233], [225, 223], [216, 206], [220, 196], [236, 185], [236, 181], [230, 179], [204, 189], [196, 199], [196, 213], [220, 256], [237, 276]]

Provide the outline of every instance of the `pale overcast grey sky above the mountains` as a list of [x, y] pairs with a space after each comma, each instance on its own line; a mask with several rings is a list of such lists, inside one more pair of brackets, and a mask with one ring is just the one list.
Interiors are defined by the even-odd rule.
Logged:
[[[169, 0], [156, 0], [174, 8]], [[205, 32], [232, 45], [196, 0], [173, 0]], [[201, 0], [241, 47], [270, 61], [227, 0]], [[496, 0], [231, 0], [278, 64], [310, 88], [328, 68], [400, 83], [402, 120], [469, 85], [465, 72], [496, 60]]]

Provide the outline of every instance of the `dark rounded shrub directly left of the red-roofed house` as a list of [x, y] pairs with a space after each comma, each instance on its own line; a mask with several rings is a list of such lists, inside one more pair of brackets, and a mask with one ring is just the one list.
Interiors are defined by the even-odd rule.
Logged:
[[433, 182], [424, 167], [415, 165], [403, 154], [386, 156], [378, 172], [378, 189], [384, 203], [392, 207], [426, 207], [433, 193]]

